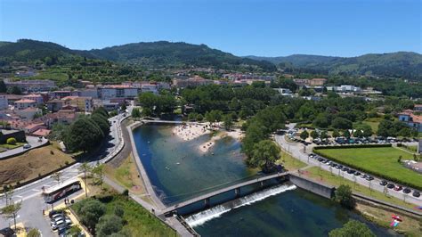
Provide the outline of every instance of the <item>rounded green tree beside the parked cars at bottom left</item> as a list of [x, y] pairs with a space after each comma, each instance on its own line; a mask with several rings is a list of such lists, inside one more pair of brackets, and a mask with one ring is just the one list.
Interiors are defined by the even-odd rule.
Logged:
[[93, 232], [100, 217], [106, 212], [106, 207], [99, 200], [86, 200], [78, 211], [81, 222]]

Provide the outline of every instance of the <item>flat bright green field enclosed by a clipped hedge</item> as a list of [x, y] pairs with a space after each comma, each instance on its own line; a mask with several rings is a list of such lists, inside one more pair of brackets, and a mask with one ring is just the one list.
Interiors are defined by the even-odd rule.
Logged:
[[410, 152], [393, 147], [319, 149], [315, 152], [349, 167], [422, 190], [422, 175], [397, 162], [400, 156], [413, 159]]

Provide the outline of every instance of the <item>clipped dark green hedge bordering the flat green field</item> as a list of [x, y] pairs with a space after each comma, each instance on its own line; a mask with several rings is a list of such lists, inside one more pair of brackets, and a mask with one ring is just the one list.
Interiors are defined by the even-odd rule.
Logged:
[[[379, 144], [379, 145], [384, 145], [384, 147], [385, 147], [385, 144]], [[365, 145], [365, 146], [368, 147], [367, 145]], [[359, 147], [361, 148], [363, 146], [359, 146]], [[373, 147], [373, 146], [371, 146], [371, 147]], [[377, 147], [379, 147], [379, 146], [377, 146]], [[329, 156], [329, 155], [326, 155], [326, 154], [323, 155], [321, 153], [321, 151], [318, 151], [318, 150], [322, 149], [322, 147], [320, 147], [320, 149], [316, 149], [316, 148], [317, 147], [313, 148], [313, 152], [316, 153], [316, 154], [318, 154], [318, 155], [320, 155], [321, 157], [326, 158], [326, 159], [330, 159], [332, 161], [336, 161], [337, 163], [342, 164], [342, 165], [345, 165], [345, 166], [347, 166], [349, 168], [354, 168], [354, 169], [359, 170], [361, 172], [365, 172], [365, 173], [370, 174], [370, 175], [373, 175], [373, 176], [384, 178], [386, 180], [392, 181], [392, 182], [397, 183], [397, 184], [403, 184], [405, 186], [409, 186], [411, 188], [418, 189], [419, 191], [422, 190], [422, 184], [420, 184], [420, 185], [418, 185], [418, 184], [410, 184], [408, 182], [403, 182], [402, 180], [400, 180], [398, 178], [395, 178], [395, 177], [392, 177], [392, 176], [387, 176], [387, 175], [385, 175], [385, 174], [383, 174], [381, 172], [377, 172], [377, 171], [374, 171], [374, 170], [369, 170], [369, 169], [366, 169], [366, 168], [355, 166], [353, 164], [349, 164], [347, 162], [344, 162], [343, 160], [337, 159], [336, 157], [332, 157], [332, 156]], [[342, 147], [342, 148], [345, 148], [345, 147]], [[356, 148], [356, 146], [354, 146], [353, 148]], [[328, 149], [332, 149], [332, 148], [328, 148]]]

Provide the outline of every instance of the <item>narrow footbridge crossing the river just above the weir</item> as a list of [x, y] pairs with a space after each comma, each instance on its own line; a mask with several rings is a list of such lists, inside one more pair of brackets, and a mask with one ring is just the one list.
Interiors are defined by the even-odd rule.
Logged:
[[273, 175], [269, 175], [269, 176], [257, 177], [256, 179], [248, 180], [248, 181], [245, 181], [243, 183], [233, 184], [229, 187], [225, 187], [225, 188], [219, 189], [219, 190], [214, 191], [214, 192], [208, 192], [206, 194], [192, 198], [191, 200], [185, 200], [183, 202], [179, 202], [179, 203], [174, 204], [172, 206], [167, 206], [166, 208], [159, 210], [157, 214], [158, 215], [167, 214], [167, 213], [170, 213], [170, 212], [172, 212], [172, 211], [174, 211], [178, 208], [183, 208], [183, 207], [189, 206], [189, 205], [191, 205], [195, 202], [201, 201], [201, 200], [204, 200], [205, 205], [207, 206], [207, 205], [209, 205], [209, 199], [216, 196], [216, 195], [222, 194], [224, 192], [230, 192], [230, 191], [234, 190], [235, 194], [238, 196], [240, 194], [240, 188], [241, 187], [248, 186], [250, 184], [264, 185], [264, 181], [266, 181], [266, 180], [270, 180], [270, 179], [273, 179], [273, 178], [276, 178], [276, 177], [285, 177], [285, 176], [288, 176], [288, 175], [289, 175], [289, 172], [277, 173], [277, 174], [273, 174]]

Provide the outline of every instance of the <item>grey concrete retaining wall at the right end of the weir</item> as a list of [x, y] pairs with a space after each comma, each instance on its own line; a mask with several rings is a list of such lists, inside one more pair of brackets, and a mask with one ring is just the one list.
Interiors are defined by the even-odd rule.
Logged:
[[334, 197], [334, 191], [336, 190], [336, 188], [333, 186], [317, 183], [311, 179], [305, 178], [303, 176], [298, 176], [296, 174], [289, 174], [289, 180], [291, 183], [295, 184], [299, 188], [302, 188], [309, 192], [313, 192], [324, 198], [331, 199], [332, 197]]

